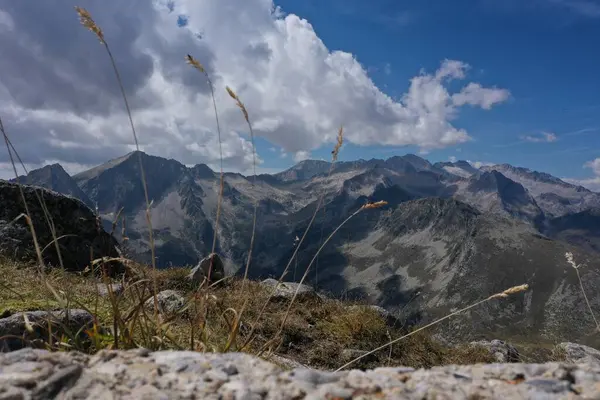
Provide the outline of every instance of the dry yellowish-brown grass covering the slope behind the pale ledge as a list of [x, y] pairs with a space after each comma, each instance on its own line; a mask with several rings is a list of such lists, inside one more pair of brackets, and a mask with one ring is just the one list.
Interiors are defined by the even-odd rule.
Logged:
[[[125, 292], [119, 297], [118, 304], [123, 311], [120, 327], [130, 327], [131, 318], [126, 318], [131, 309], [151, 298], [151, 274], [158, 290], [175, 289], [193, 302], [195, 288], [187, 280], [187, 270], [172, 268], [154, 271], [151, 267], [135, 265], [134, 273], [124, 279]], [[110, 329], [113, 324], [113, 304], [110, 296], [100, 296], [96, 285], [103, 285], [102, 279], [83, 274], [74, 274], [61, 269], [51, 270], [41, 277], [31, 268], [10, 261], [0, 262], [0, 315], [8, 316], [19, 311], [58, 310], [64, 307], [55, 292], [68, 289], [72, 308], [86, 308], [97, 318], [97, 331], [108, 332], [87, 340], [62, 338], [63, 344], [52, 348], [59, 350], [74, 348], [85, 352], [95, 352], [102, 348], [114, 348]], [[144, 281], [145, 280], [145, 281]], [[144, 283], [145, 282], [145, 283]], [[245, 286], [245, 287], [244, 287]], [[136, 290], [135, 288], [137, 287]], [[6, 290], [5, 290], [6, 289]], [[140, 293], [145, 293], [141, 295]], [[196, 330], [193, 350], [221, 352], [226, 348], [239, 350], [249, 332], [249, 320], [254, 320], [262, 310], [264, 302], [270, 297], [270, 290], [258, 282], [248, 280], [246, 285], [241, 279], [231, 279], [207, 290], [209, 306], [204, 322], [205, 329]], [[292, 304], [288, 314], [288, 323], [281, 332], [282, 346], [279, 356], [293, 359], [304, 365], [333, 369], [350, 357], [362, 354], [374, 345], [385, 344], [390, 335], [400, 334], [400, 330], [391, 329], [385, 320], [372, 308], [358, 303], [338, 300], [302, 299], [294, 303], [289, 301], [271, 301], [264, 312], [264, 318], [255, 328], [253, 346], [246, 349], [255, 354], [262, 346], [277, 334], [281, 328], [279, 321], [288, 313], [287, 305]], [[239, 340], [228, 345], [228, 338], [235, 314], [227, 310], [240, 310], [245, 305], [245, 319], [240, 323]], [[358, 306], [357, 306], [358, 305]], [[185, 312], [185, 308], [174, 317], [163, 318], [163, 336], [153, 337], [154, 326], [151, 315], [140, 312], [138, 320], [131, 330], [122, 332], [122, 348], [146, 347], [150, 349], [191, 349], [190, 321], [195, 316]], [[91, 330], [93, 331], [93, 330]], [[59, 342], [57, 340], [56, 342]], [[394, 346], [391, 353], [380, 352], [357, 366], [361, 368], [380, 365], [405, 365], [412, 367], [430, 367], [448, 363], [490, 362], [485, 350], [467, 348], [446, 348], [420, 333], [409, 340]]]

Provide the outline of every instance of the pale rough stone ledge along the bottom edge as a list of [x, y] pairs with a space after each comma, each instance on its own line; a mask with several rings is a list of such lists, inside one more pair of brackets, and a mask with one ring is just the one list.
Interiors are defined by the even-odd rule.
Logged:
[[491, 364], [285, 371], [244, 353], [0, 353], [0, 398], [14, 399], [576, 399], [599, 398], [590, 364]]

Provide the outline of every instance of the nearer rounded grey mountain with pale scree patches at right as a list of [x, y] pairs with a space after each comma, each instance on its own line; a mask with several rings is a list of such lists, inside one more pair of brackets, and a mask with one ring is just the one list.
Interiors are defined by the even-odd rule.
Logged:
[[[459, 317], [442, 330], [464, 338], [493, 331], [551, 338], [584, 337], [593, 321], [581, 302], [576, 275], [568, 271], [567, 244], [540, 235], [530, 225], [481, 213], [453, 199], [425, 198], [371, 214], [340, 234], [321, 257], [319, 286], [344, 289], [409, 321], [432, 320], [510, 286], [530, 291]], [[592, 307], [600, 306], [600, 260], [576, 251], [587, 263]]]

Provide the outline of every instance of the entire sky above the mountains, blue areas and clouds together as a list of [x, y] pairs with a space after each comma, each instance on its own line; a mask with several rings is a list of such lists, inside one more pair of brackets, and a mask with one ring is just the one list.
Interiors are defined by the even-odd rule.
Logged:
[[[273, 3], [274, 1], [274, 3]], [[510, 163], [600, 190], [600, 0], [20, 0], [0, 4], [0, 113], [30, 169], [132, 149], [86, 7], [121, 71], [142, 150], [259, 172], [422, 154]], [[125, 4], [125, 5], [124, 5]], [[32, 14], [31, 7], [37, 12]], [[278, 8], [279, 7], [279, 8]], [[10, 176], [0, 154], [0, 177]]]

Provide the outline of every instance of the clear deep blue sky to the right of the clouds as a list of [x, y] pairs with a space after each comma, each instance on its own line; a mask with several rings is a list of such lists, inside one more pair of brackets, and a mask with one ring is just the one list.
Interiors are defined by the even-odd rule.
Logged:
[[[510, 90], [510, 100], [490, 111], [461, 111], [454, 124], [469, 131], [471, 142], [432, 150], [425, 158], [507, 162], [560, 177], [591, 176], [583, 165], [600, 157], [600, 2], [496, 3], [502, 2], [276, 2], [284, 12], [306, 18], [330, 50], [353, 53], [390, 96], [402, 96], [419, 70], [435, 70], [446, 58], [471, 65], [470, 79]], [[418, 151], [348, 145], [341, 159]], [[312, 155], [327, 159], [329, 149]], [[291, 162], [264, 159], [263, 167]]]

